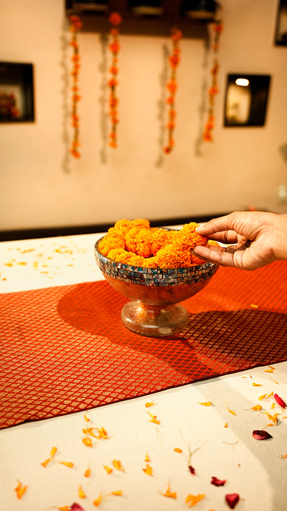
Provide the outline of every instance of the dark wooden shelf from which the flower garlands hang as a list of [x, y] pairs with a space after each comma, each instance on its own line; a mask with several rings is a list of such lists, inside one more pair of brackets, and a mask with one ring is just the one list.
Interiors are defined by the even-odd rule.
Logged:
[[66, 14], [81, 16], [81, 32], [108, 32], [109, 14], [116, 11], [123, 16], [121, 34], [169, 36], [171, 27], [176, 26], [182, 30], [184, 38], [207, 39], [207, 24], [212, 22], [212, 19], [197, 20], [183, 16], [181, 4], [181, 0], [162, 0], [160, 14], [143, 15], [133, 12], [129, 8], [128, 0], [107, 0], [106, 8], [102, 10], [89, 3], [66, 0]]

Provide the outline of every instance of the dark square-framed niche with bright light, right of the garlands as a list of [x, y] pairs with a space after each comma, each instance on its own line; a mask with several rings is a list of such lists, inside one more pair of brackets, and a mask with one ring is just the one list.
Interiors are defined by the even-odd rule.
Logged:
[[270, 82], [270, 75], [227, 75], [224, 126], [264, 126]]

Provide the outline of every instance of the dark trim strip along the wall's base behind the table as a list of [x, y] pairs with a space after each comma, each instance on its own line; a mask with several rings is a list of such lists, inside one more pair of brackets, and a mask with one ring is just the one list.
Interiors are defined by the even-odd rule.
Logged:
[[[227, 213], [219, 213], [215, 215], [205, 215], [195, 217], [180, 218], [163, 218], [161, 220], [151, 220], [151, 227], [160, 227], [162, 225], [181, 225], [189, 222], [208, 222], [211, 218], [226, 215]], [[52, 238], [54, 236], [73, 236], [77, 234], [106, 233], [110, 224], [93, 224], [93, 225], [75, 225], [63, 227], [45, 227], [38, 229], [15, 229], [0, 231], [0, 241], [28, 240], [34, 238]]]

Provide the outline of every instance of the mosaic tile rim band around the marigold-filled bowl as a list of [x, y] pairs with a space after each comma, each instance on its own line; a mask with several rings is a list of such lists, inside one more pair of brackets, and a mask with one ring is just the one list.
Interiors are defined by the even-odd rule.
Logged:
[[201, 282], [219, 269], [214, 263], [188, 266], [185, 268], [145, 268], [119, 263], [106, 257], [98, 250], [100, 238], [94, 245], [94, 256], [104, 275], [119, 281], [145, 286], [181, 286]]

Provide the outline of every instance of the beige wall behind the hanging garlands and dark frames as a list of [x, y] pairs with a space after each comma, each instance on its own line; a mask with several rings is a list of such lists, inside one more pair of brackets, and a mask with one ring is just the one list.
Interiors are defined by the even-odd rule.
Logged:
[[[277, 2], [221, 5], [214, 142], [199, 143], [211, 64], [204, 41], [181, 43], [176, 147], [166, 156], [158, 102], [169, 39], [121, 36], [119, 147], [113, 150], [104, 144], [108, 120], [101, 104], [106, 78], [100, 65], [110, 56], [99, 33], [81, 33], [82, 157], [76, 160], [68, 155], [71, 50], [64, 1], [1, 0], [0, 60], [34, 64], [36, 122], [0, 124], [0, 229], [216, 215], [249, 204], [287, 213], [287, 202], [277, 198], [279, 185], [287, 184], [280, 154], [287, 143], [287, 48], [273, 45]], [[237, 72], [272, 75], [264, 127], [223, 127], [226, 74]]]

